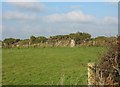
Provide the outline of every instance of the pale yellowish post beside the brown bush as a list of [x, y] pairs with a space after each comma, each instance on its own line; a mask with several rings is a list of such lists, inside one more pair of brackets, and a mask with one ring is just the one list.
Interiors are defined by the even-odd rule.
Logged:
[[88, 63], [88, 86], [96, 85], [96, 64]]

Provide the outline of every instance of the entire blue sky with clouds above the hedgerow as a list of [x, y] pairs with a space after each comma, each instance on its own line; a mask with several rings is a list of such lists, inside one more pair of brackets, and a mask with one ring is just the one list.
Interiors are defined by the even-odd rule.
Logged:
[[117, 35], [117, 2], [2, 3], [2, 39], [49, 37], [78, 31], [93, 37]]

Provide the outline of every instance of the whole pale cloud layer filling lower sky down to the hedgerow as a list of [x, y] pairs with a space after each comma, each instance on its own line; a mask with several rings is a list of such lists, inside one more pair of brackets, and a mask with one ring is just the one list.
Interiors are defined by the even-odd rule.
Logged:
[[3, 29], [3, 38], [29, 38], [31, 35], [50, 36], [78, 31], [88, 32], [93, 36], [105, 35], [106, 32], [116, 35], [116, 32], [118, 32], [117, 26], [113, 26], [113, 24], [117, 24], [117, 18], [115, 17], [98, 19], [94, 15], [85, 14], [82, 11], [71, 11], [42, 16], [42, 20], [38, 13], [30, 13], [32, 14], [28, 12], [23, 13], [19, 10], [3, 13], [4, 19], [22, 21], [4, 21], [4, 27], [6, 28]]

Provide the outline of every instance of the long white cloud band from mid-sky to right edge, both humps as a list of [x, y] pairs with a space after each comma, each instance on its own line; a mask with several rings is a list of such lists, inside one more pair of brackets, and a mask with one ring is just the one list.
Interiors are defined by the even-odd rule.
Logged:
[[72, 11], [62, 14], [52, 14], [44, 17], [44, 21], [47, 22], [78, 22], [78, 23], [94, 23], [94, 24], [104, 24], [104, 25], [114, 25], [118, 24], [117, 17], [107, 16], [102, 19], [89, 14], [85, 14], [81, 11]]

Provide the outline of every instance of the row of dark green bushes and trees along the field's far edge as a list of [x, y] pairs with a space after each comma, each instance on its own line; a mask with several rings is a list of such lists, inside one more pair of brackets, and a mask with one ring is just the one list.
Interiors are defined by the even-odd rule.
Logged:
[[83, 42], [89, 42], [89, 41], [100, 41], [110, 43], [111, 41], [114, 41], [116, 37], [105, 37], [105, 36], [98, 36], [96, 38], [92, 38], [89, 33], [85, 32], [76, 32], [76, 33], [70, 33], [68, 35], [55, 35], [50, 36], [49, 38], [45, 36], [31, 36], [29, 39], [15, 39], [15, 38], [5, 38], [2, 41], [3, 47], [11, 47], [12, 45], [33, 45], [33, 44], [39, 44], [39, 43], [46, 43], [46, 42], [56, 42], [61, 40], [74, 40], [75, 44], [82, 44]]

